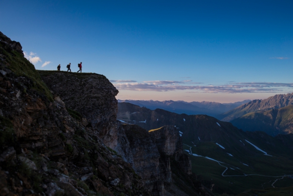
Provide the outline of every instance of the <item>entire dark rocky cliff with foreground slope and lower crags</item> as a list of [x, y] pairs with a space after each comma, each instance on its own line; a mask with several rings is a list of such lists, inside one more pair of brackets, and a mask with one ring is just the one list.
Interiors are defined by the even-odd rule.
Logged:
[[118, 90], [105, 76], [37, 71], [2, 33], [0, 76], [1, 195], [211, 194], [176, 129], [160, 139], [116, 120]]

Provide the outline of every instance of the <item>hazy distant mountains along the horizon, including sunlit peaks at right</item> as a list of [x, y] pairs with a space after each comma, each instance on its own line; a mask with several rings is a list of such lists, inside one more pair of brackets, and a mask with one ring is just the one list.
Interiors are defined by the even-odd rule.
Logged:
[[270, 135], [293, 133], [293, 93], [277, 94], [263, 100], [229, 104], [217, 102], [118, 100], [147, 109], [164, 109], [178, 114], [206, 114], [231, 122], [244, 131], [265, 131]]

